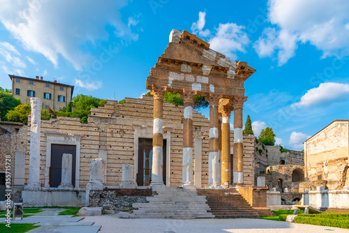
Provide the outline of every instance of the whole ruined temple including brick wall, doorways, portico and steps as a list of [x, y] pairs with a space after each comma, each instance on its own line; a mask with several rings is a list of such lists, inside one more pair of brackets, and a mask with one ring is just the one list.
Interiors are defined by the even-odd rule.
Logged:
[[[227, 213], [214, 213], [216, 216], [255, 218], [258, 213], [269, 214], [267, 188], [253, 187], [255, 137], [242, 133], [247, 100], [244, 82], [254, 72], [246, 62], [232, 61], [211, 50], [195, 35], [172, 30], [168, 47], [147, 78], [151, 96], [125, 98], [125, 103], [108, 100], [104, 107], [91, 108], [88, 123], [70, 117], [40, 122], [36, 139], [40, 167], [38, 163], [33, 166], [38, 168], [35, 174], [40, 176], [41, 187], [38, 193], [25, 190], [24, 202], [39, 205], [38, 196], [52, 200], [46, 204], [50, 205], [68, 192], [75, 205], [110, 206], [116, 194], [103, 193], [110, 192], [107, 190], [121, 196], [155, 192], [157, 197], [147, 197], [150, 203], [133, 206], [138, 208], [135, 216], [154, 211], [151, 202], [158, 203], [160, 198], [162, 206], [170, 204], [179, 213], [184, 207], [191, 209], [188, 216], [181, 213], [182, 217], [212, 218], [202, 196], [220, 199], [226, 192], [219, 189], [231, 188], [235, 195], [230, 195], [230, 202], [244, 202], [246, 213], [230, 206]], [[184, 106], [165, 102], [166, 91], [179, 93]], [[193, 110], [197, 95], [209, 102], [209, 119]], [[230, 129], [230, 117], [234, 130]], [[28, 139], [30, 135], [28, 130]], [[26, 178], [30, 159], [27, 153]], [[214, 193], [196, 191], [200, 188]], [[184, 206], [188, 203], [194, 205]]]

